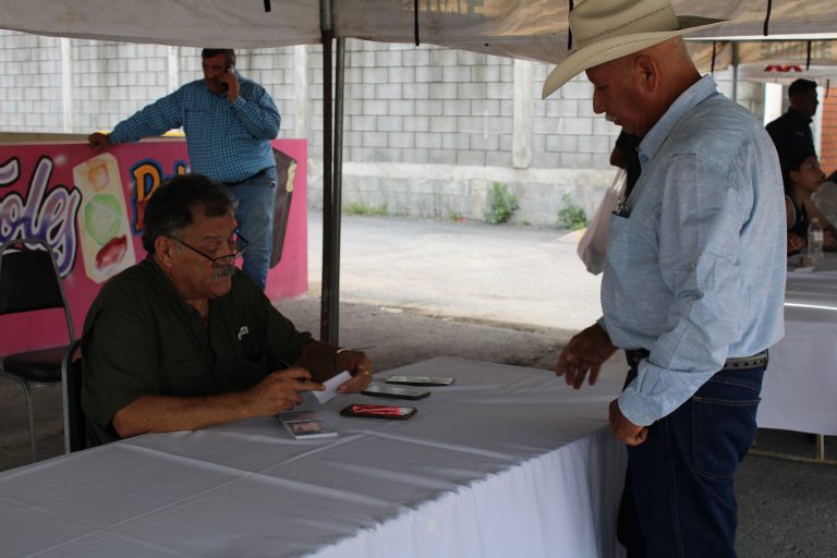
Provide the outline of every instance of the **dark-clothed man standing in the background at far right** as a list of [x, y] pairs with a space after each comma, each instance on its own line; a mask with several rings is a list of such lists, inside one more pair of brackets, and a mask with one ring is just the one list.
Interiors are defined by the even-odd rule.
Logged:
[[816, 153], [811, 119], [816, 114], [820, 99], [816, 97], [816, 82], [797, 80], [788, 87], [788, 110], [767, 124], [767, 133], [776, 145], [779, 160], [789, 151], [804, 149]]

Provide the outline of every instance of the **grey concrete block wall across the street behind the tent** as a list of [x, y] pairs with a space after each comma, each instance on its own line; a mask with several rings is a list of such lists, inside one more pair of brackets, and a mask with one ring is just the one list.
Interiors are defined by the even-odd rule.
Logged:
[[[520, 198], [515, 221], [551, 226], [568, 192], [592, 215], [610, 184], [618, 130], [593, 113], [583, 75], [541, 100], [549, 64], [434, 46], [345, 44], [344, 202], [481, 219], [486, 184], [499, 181]], [[322, 47], [236, 53], [239, 71], [274, 97], [280, 137], [308, 140], [308, 199], [322, 206]], [[0, 130], [10, 132], [108, 130], [202, 76], [196, 48], [8, 31], [0, 31]], [[729, 94], [730, 72], [715, 77]], [[738, 96], [759, 113], [761, 85], [741, 82]]]

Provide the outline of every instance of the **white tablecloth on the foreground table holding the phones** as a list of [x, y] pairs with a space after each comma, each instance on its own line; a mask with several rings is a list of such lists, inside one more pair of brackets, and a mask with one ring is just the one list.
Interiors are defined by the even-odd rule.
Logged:
[[[396, 372], [396, 371], [392, 371]], [[606, 426], [618, 381], [434, 359], [454, 376], [409, 421], [322, 415], [145, 435], [0, 474], [0, 556], [615, 556], [624, 451]], [[386, 376], [387, 374], [381, 374]], [[403, 404], [403, 403], [402, 403]]]

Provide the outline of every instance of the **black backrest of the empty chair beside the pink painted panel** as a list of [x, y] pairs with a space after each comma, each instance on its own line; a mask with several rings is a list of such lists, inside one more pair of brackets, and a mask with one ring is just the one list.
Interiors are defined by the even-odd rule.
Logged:
[[61, 279], [47, 250], [17, 242], [0, 246], [0, 314], [64, 307]]

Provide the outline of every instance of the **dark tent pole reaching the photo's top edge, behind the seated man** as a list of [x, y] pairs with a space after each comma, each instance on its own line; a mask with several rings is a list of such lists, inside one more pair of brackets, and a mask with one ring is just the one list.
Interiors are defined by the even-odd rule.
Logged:
[[[338, 344], [339, 304], [337, 277], [339, 266], [335, 262], [335, 218], [332, 189], [332, 84], [331, 84], [331, 0], [320, 0], [320, 32], [323, 37], [323, 293], [319, 310], [319, 339], [326, 343]], [[333, 335], [332, 335], [333, 332]]]

